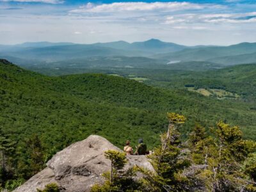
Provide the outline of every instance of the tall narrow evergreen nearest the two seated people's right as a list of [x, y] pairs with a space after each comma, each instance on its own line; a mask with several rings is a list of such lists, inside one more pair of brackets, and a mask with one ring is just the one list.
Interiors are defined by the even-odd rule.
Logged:
[[180, 174], [188, 167], [188, 151], [184, 150], [180, 141], [180, 125], [186, 118], [176, 113], [168, 113], [168, 131], [161, 134], [161, 145], [149, 156], [155, 173], [138, 168], [144, 175], [145, 191], [182, 191], [186, 186], [186, 178]]

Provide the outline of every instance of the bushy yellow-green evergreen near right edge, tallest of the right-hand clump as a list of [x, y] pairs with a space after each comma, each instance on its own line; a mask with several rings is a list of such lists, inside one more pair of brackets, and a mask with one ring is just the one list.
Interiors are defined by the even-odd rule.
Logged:
[[241, 191], [250, 184], [241, 172], [241, 164], [253, 151], [250, 141], [243, 140], [242, 132], [237, 126], [219, 122], [215, 129], [218, 141], [218, 156], [212, 166], [214, 191]]

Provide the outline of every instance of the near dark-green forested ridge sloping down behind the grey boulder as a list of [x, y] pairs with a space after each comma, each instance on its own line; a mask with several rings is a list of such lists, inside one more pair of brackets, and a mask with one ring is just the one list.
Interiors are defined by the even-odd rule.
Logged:
[[1, 179], [10, 189], [42, 169], [57, 151], [90, 134], [118, 147], [143, 137], [148, 147], [155, 147], [167, 127], [166, 111], [188, 118], [183, 138], [195, 122], [208, 128], [225, 120], [240, 125], [244, 138], [255, 140], [256, 111], [250, 103], [162, 90], [123, 77], [47, 77], [1, 60], [0, 98], [1, 136], [12, 144]]

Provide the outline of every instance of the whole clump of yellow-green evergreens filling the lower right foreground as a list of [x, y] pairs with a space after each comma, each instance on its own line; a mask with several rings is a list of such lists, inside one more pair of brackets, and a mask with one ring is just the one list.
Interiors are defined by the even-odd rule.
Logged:
[[212, 138], [197, 124], [180, 143], [178, 125], [169, 124], [149, 156], [156, 173], [137, 168], [145, 191], [255, 191], [256, 143], [243, 140], [239, 127], [219, 122]]

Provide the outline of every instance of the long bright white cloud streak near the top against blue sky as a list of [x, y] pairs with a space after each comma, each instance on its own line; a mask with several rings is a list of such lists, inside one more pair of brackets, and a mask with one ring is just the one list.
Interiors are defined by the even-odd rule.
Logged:
[[112, 13], [112, 12], [147, 12], [154, 10], [163, 10], [166, 12], [174, 12], [178, 10], [200, 10], [205, 8], [205, 4], [196, 4], [188, 2], [122, 2], [111, 4], [93, 4], [87, 3], [80, 6], [79, 9], [70, 11], [71, 13]]

